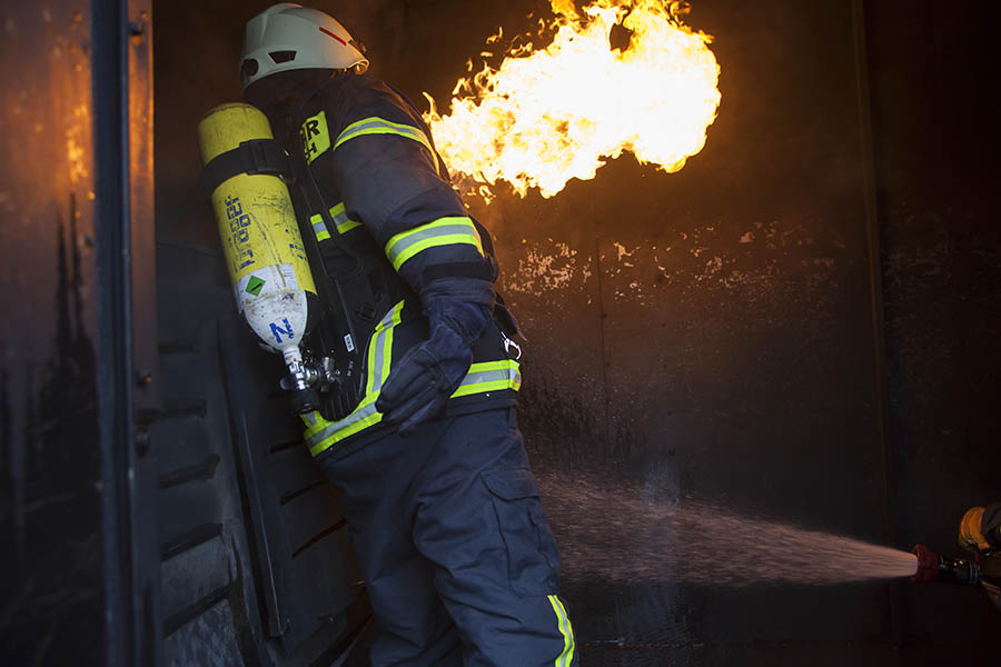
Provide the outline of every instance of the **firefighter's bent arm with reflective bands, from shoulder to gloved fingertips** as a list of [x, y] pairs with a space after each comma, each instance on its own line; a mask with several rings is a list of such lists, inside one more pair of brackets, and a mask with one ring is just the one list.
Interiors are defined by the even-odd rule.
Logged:
[[400, 359], [376, 404], [402, 432], [440, 414], [472, 364], [494, 303], [496, 265], [480, 228], [440, 175], [423, 123], [388, 108], [348, 125], [335, 143], [335, 180], [394, 269], [420, 296], [430, 336]]

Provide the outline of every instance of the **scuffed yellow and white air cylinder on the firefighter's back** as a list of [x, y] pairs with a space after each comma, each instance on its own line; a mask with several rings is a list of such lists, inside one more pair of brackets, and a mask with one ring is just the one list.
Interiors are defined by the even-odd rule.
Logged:
[[[272, 138], [267, 117], [250, 104], [216, 107], [198, 123], [202, 165], [244, 141]], [[287, 364], [301, 362], [306, 292], [316, 287], [288, 187], [277, 176], [237, 173], [211, 200], [237, 307]]]

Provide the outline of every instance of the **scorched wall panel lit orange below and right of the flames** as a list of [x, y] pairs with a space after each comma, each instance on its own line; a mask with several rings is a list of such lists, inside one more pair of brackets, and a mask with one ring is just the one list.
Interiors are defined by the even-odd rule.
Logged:
[[[706, 2], [692, 21], [716, 36], [723, 70], [720, 117], [702, 153], [673, 176], [625, 158], [553, 200], [499, 202], [506, 266], [523, 261], [525, 246], [542, 266], [554, 257], [565, 263], [561, 245], [569, 243], [589, 267], [591, 300], [576, 308], [578, 285], [525, 292], [517, 273], [506, 278], [531, 341], [526, 397], [539, 378], [555, 377], [561, 398], [596, 395], [607, 406], [597, 420], [603, 436], [576, 442], [552, 437], [549, 412], [532, 410], [528, 441], [576, 447], [577, 466], [618, 471], [622, 488], [656, 485], [668, 499], [695, 496], [880, 540], [851, 4], [765, 2], [746, 11]], [[595, 329], [599, 346], [587, 345], [578, 332]], [[587, 525], [573, 515], [554, 521], [567, 524], [571, 541]], [[582, 567], [565, 561], [568, 575]], [[595, 594], [594, 583], [571, 588], [582, 639], [636, 647], [622, 664], [668, 656], [701, 664], [697, 651], [670, 648], [678, 645], [725, 651], [891, 630], [879, 585], [731, 591], [654, 587], [654, 579]], [[658, 611], [665, 606], [673, 614]], [[651, 656], [651, 646], [664, 653]]]

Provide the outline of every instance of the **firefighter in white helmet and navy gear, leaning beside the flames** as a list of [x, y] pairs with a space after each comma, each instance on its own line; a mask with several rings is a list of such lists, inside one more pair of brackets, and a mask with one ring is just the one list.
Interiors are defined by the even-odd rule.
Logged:
[[[374, 665], [576, 665], [559, 558], [515, 417], [514, 320], [490, 236], [449, 185], [428, 127], [324, 12], [247, 23], [241, 76], [323, 199], [324, 268], [371, 307], [347, 313], [365, 384], [306, 414], [340, 490], [378, 621]], [[360, 265], [360, 266], [359, 266]]]

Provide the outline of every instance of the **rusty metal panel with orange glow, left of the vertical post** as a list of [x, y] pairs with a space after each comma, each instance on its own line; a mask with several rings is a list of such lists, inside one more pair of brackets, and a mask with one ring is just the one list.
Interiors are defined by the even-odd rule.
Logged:
[[0, 8], [0, 654], [102, 657], [90, 13]]

